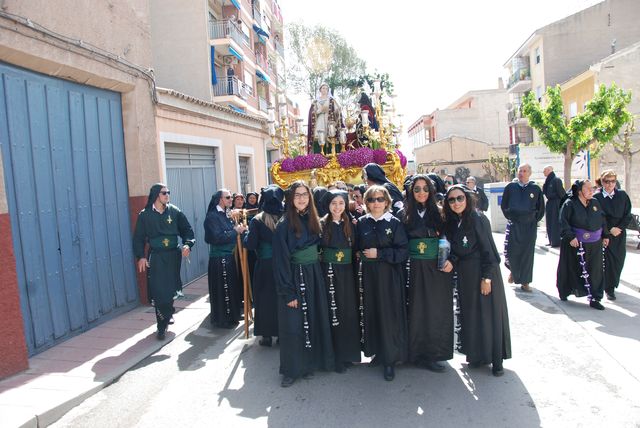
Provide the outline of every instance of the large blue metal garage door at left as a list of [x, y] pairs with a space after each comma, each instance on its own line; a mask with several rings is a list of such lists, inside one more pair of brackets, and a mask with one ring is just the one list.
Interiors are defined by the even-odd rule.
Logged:
[[30, 355], [135, 306], [120, 95], [0, 63], [0, 148]]

